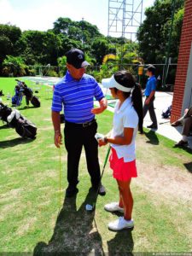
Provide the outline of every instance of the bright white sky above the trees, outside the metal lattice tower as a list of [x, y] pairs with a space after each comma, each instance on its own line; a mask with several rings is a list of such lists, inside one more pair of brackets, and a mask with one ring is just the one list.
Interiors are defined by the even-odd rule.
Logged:
[[[153, 3], [154, 0], [144, 0], [143, 9]], [[46, 31], [59, 17], [72, 20], [84, 17], [102, 34], [108, 34], [108, 0], [0, 0], [0, 23], [10, 22], [22, 31]]]

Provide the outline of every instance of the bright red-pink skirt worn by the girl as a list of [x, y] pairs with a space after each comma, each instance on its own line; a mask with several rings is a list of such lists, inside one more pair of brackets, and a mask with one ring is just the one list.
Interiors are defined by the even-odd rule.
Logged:
[[128, 181], [131, 177], [137, 177], [136, 160], [124, 162], [124, 158], [118, 158], [114, 148], [109, 158], [110, 168], [113, 170], [113, 177], [119, 181]]

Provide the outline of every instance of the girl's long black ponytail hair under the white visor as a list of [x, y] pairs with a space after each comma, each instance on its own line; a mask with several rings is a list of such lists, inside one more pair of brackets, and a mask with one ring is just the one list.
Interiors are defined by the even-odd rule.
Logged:
[[[114, 79], [124, 87], [132, 88], [132, 92], [123, 92], [123, 94], [125, 98], [131, 96], [133, 107], [139, 118], [138, 130], [143, 133], [143, 100], [140, 85], [136, 83], [132, 74], [125, 70], [114, 73]], [[117, 92], [118, 89], [114, 88], [114, 90]]]

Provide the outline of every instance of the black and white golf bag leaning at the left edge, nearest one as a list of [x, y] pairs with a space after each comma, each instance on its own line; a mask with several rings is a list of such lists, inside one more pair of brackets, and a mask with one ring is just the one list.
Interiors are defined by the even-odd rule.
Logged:
[[0, 103], [0, 119], [6, 122], [9, 127], [15, 128], [20, 137], [36, 137], [37, 127], [22, 116], [17, 109], [12, 110], [12, 108]]

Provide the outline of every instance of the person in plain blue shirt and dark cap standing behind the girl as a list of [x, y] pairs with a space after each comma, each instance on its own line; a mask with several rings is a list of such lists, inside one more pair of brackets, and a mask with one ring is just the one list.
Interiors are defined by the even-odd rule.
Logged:
[[148, 65], [146, 75], [148, 76], [148, 82], [146, 84], [146, 89], [144, 95], [146, 96], [144, 106], [143, 106], [143, 119], [146, 113], [149, 113], [150, 119], [152, 121], [148, 128], [157, 129], [157, 118], [154, 112], [154, 95], [157, 86], [157, 79], [154, 76], [155, 67], [153, 65]]

